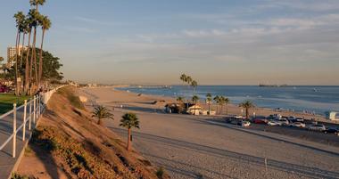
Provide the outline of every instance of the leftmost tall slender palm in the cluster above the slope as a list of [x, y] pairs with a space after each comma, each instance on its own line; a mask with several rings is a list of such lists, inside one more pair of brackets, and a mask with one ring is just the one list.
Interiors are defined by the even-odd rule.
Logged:
[[16, 54], [15, 54], [15, 94], [19, 95], [19, 85], [18, 85], [18, 60], [19, 60], [19, 53], [20, 53], [20, 38], [21, 38], [21, 32], [23, 31], [23, 24], [25, 20], [25, 15], [23, 12], [17, 12], [14, 14], [16, 27], [17, 27], [17, 35], [16, 35], [16, 42], [15, 42], [15, 48], [16, 48]]

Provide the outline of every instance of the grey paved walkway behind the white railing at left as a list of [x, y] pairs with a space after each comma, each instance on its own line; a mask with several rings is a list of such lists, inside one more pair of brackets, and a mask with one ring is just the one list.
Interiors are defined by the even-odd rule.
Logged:
[[[33, 110], [33, 107], [32, 107]], [[29, 105], [27, 107], [27, 111], [29, 113]], [[0, 119], [0, 145], [2, 145], [12, 134], [12, 120], [13, 115], [8, 115], [4, 118]], [[23, 108], [18, 110], [17, 112], [17, 127], [21, 126], [23, 123]], [[33, 115], [32, 115], [32, 123], [31, 123], [31, 129], [34, 129], [33, 124]], [[8, 142], [8, 144], [4, 147], [2, 151], [0, 151], [0, 179], [6, 179], [8, 176], [11, 175], [12, 169], [14, 165], [16, 164], [17, 160], [19, 159], [19, 156], [21, 154], [21, 151], [23, 150], [26, 142], [28, 142], [29, 136], [31, 132], [29, 131], [29, 121], [26, 123], [26, 133], [25, 133], [25, 141], [22, 141], [22, 128], [17, 133], [16, 136], [16, 158], [12, 158], [12, 140]]]

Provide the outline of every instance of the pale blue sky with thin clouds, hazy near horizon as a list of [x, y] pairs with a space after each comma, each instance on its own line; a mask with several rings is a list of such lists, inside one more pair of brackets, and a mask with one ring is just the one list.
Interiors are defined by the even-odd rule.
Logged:
[[[45, 50], [80, 83], [173, 85], [186, 73], [200, 85], [339, 85], [338, 0], [46, 0], [39, 10], [52, 20]], [[4, 58], [17, 11], [29, 0], [1, 2]]]

